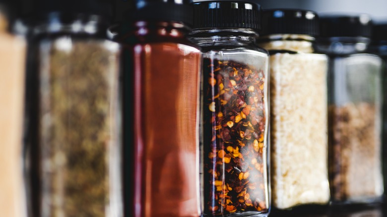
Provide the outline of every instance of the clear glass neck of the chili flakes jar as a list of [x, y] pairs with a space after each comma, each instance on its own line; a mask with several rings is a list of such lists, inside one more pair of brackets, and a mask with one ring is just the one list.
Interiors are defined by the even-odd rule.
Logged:
[[258, 33], [253, 29], [196, 29], [190, 40], [200, 47], [247, 47], [254, 46]]

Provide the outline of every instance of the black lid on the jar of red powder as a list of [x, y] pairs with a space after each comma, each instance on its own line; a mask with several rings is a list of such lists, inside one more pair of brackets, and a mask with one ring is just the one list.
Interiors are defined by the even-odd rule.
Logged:
[[133, 0], [133, 8], [124, 15], [133, 21], [176, 21], [192, 25], [190, 0]]

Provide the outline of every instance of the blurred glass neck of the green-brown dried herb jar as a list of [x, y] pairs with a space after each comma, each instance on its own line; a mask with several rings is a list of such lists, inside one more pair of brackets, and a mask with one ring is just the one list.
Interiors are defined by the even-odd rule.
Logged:
[[71, 34], [107, 36], [109, 23], [99, 15], [50, 13], [33, 28], [34, 35]]

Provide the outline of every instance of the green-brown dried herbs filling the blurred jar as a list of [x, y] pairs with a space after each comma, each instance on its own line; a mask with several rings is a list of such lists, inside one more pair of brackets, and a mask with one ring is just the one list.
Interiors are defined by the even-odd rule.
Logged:
[[109, 155], [119, 146], [117, 48], [66, 38], [41, 46], [44, 216], [105, 216], [112, 185]]

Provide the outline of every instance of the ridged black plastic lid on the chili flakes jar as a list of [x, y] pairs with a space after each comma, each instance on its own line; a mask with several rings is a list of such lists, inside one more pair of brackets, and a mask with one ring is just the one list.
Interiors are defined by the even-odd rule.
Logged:
[[260, 30], [261, 9], [248, 1], [201, 1], [194, 3], [194, 28], [245, 28]]

